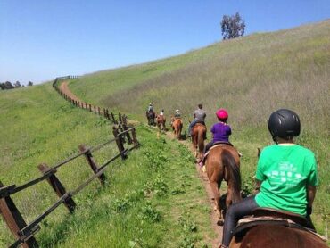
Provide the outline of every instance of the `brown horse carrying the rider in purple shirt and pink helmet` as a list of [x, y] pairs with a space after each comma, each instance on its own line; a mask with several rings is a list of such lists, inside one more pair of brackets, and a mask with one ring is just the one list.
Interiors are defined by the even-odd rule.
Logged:
[[219, 215], [219, 225], [223, 225], [224, 207], [220, 204], [219, 188], [222, 180], [227, 182], [226, 209], [231, 203], [238, 203], [241, 197], [240, 157], [231, 145], [215, 145], [205, 161], [206, 172], [214, 195], [215, 211]]

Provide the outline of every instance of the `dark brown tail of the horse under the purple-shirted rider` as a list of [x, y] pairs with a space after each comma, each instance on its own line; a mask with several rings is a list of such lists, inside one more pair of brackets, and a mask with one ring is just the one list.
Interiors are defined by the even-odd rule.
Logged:
[[233, 183], [232, 201], [233, 203], [238, 203], [242, 199], [241, 197], [242, 181], [241, 181], [240, 167], [238, 164], [236, 164], [233, 155], [229, 151], [223, 150], [221, 156], [222, 156], [222, 163], [224, 164], [224, 166], [227, 167], [229, 177]]

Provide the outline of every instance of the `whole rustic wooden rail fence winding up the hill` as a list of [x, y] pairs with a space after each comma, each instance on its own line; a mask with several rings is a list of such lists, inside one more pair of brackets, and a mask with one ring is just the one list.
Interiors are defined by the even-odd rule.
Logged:
[[[87, 103], [85, 105], [83, 103], [75, 102], [68, 95], [64, 95], [61, 90], [58, 88], [57, 83], [59, 80], [64, 79], [75, 79], [76, 76], [67, 76], [56, 78], [53, 83], [53, 87], [56, 91], [59, 92], [66, 100], [75, 104], [78, 107], [85, 108], [87, 107]], [[91, 104], [88, 104], [88, 110], [91, 111], [93, 108]], [[94, 106], [95, 110], [95, 106]], [[114, 118], [114, 114], [109, 114], [108, 110], [103, 109], [103, 112], [100, 111], [100, 108], [95, 110], [95, 113], [104, 115], [105, 118], [111, 120], [114, 125], [111, 129], [113, 138], [101, 145], [97, 145], [95, 147], [87, 147], [86, 145], [78, 145], [79, 153], [70, 156], [64, 161], [59, 162], [53, 167], [48, 167], [45, 163], [39, 164], [37, 168], [42, 173], [41, 177], [30, 180], [29, 182], [21, 185], [10, 185], [4, 186], [0, 181], [0, 212], [4, 219], [4, 222], [7, 224], [7, 227], [12, 232], [12, 235], [15, 236], [16, 241], [10, 245], [10, 247], [18, 247], [22, 244], [23, 247], [37, 247], [37, 240], [34, 235], [37, 231], [40, 230], [40, 226], [38, 225], [43, 219], [45, 219], [50, 213], [52, 213], [57, 207], [59, 207], [62, 203], [65, 207], [70, 211], [70, 213], [74, 212], [76, 209], [76, 203], [74, 202], [73, 196], [78, 194], [84, 187], [86, 187], [89, 183], [91, 183], [95, 178], [100, 180], [102, 186], [104, 186], [104, 182], [106, 180], [104, 175], [104, 170], [107, 166], [116, 159], [120, 158], [122, 160], [126, 159], [128, 153], [136, 149], [139, 146], [139, 142], [136, 137], [136, 127], [128, 127], [127, 124], [127, 116], [119, 114], [119, 119], [116, 120]], [[111, 143], [116, 143], [119, 153], [111, 157], [108, 161], [105, 161], [101, 166], [98, 166], [94, 160], [92, 153], [100, 150], [105, 145], [110, 145]], [[125, 147], [125, 145], [127, 147]], [[93, 170], [94, 174], [90, 178], [87, 178], [85, 182], [80, 184], [77, 188], [67, 191], [65, 187], [62, 185], [62, 182], [59, 178], [56, 177], [57, 170], [60, 169], [63, 165], [69, 163], [70, 161], [76, 160], [78, 157], [84, 156], [86, 158], [87, 164]], [[29, 224], [25, 222], [25, 220], [21, 216], [21, 212], [16, 207], [15, 203], [12, 201], [11, 195], [21, 192], [24, 189], [29, 188], [30, 186], [35, 186], [40, 182], [46, 180], [49, 185], [53, 188], [54, 193], [58, 195], [59, 199], [52, 206], [50, 206], [45, 212], [37, 216], [36, 219], [31, 221]]]

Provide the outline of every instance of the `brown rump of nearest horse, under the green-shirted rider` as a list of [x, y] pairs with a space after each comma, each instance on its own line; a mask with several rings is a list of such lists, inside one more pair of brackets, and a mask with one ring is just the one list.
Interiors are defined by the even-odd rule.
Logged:
[[230, 242], [229, 247], [326, 248], [328, 246], [318, 236], [301, 229], [275, 225], [259, 225], [248, 229], [244, 236], [235, 236]]

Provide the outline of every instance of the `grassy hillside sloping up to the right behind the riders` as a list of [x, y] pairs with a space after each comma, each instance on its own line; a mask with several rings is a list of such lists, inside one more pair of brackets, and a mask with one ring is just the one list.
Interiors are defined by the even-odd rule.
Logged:
[[[251, 188], [256, 149], [269, 145], [267, 120], [278, 108], [301, 116], [297, 142], [318, 157], [321, 185], [313, 218], [325, 232], [330, 198], [330, 21], [220, 42], [180, 56], [104, 70], [72, 80], [82, 99], [129, 112], [144, 120], [148, 103], [172, 114], [179, 108], [187, 123], [197, 103], [208, 112], [227, 108], [232, 142], [243, 153], [243, 180]], [[327, 216], [327, 217], [326, 217]], [[328, 225], [328, 223], [327, 223]]]

